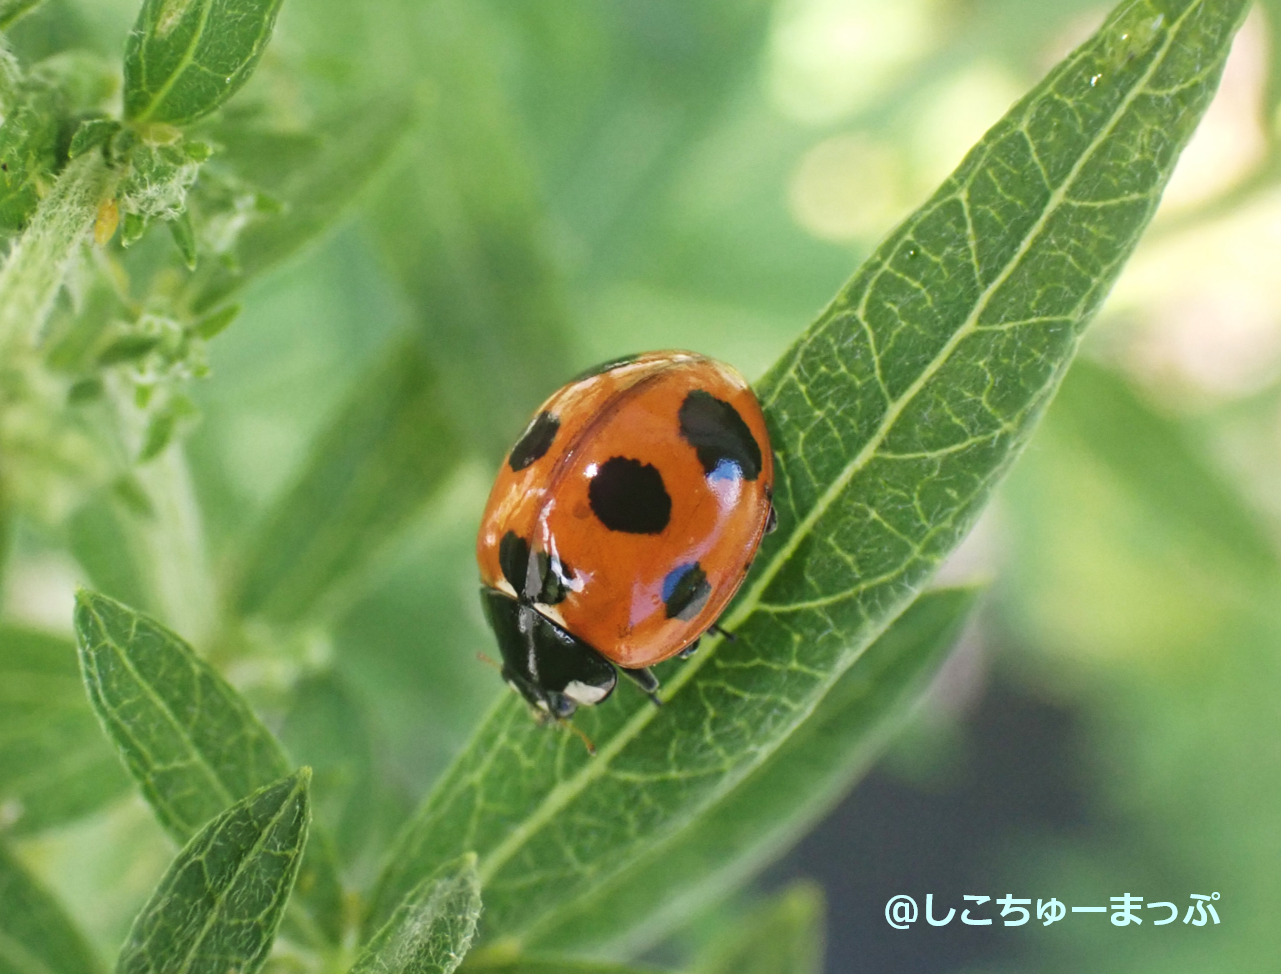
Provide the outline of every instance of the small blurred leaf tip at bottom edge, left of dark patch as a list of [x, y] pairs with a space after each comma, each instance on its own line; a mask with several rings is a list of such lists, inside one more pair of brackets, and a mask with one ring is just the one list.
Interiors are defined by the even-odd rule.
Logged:
[[738, 924], [734, 936], [714, 945], [694, 965], [697, 974], [820, 974], [822, 970], [822, 889], [790, 886]]

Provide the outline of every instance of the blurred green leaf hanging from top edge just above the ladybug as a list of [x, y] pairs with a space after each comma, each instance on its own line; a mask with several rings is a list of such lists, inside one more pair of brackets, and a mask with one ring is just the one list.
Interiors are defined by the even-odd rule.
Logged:
[[428, 5], [412, 24], [428, 95], [374, 226], [455, 424], [497, 460], [566, 378], [567, 302], [483, 6]]

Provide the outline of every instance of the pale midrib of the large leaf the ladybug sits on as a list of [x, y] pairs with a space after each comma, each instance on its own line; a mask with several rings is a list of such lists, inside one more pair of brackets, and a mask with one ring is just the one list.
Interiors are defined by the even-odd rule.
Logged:
[[[965, 323], [957, 329], [957, 332], [948, 340], [939, 354], [929, 363], [929, 365], [922, 370], [922, 374], [907, 388], [907, 391], [890, 405], [886, 410], [885, 418], [877, 427], [876, 432], [863, 446], [862, 450], [854, 456], [849, 464], [838, 474], [838, 478], [829, 486], [826, 491], [820, 496], [819, 501], [810, 510], [810, 513], [801, 520], [797, 529], [788, 537], [779, 552], [772, 557], [760, 573], [758, 578], [747, 590], [746, 596], [740, 600], [738, 609], [730, 615], [726, 622], [726, 628], [733, 631], [739, 625], [747, 616], [749, 616], [757, 607], [765, 588], [774, 579], [781, 566], [787, 563], [788, 557], [796, 551], [801, 541], [807, 537], [808, 531], [812, 529], [815, 523], [828, 511], [828, 509], [835, 502], [836, 497], [842, 490], [867, 465], [867, 463], [875, 455], [877, 447], [884, 442], [885, 437], [889, 434], [894, 420], [902, 414], [902, 411], [911, 404], [912, 399], [920, 392], [924, 384], [938, 373], [938, 370], [947, 363], [951, 354], [956, 350], [957, 345], [968, 337], [975, 331], [975, 324], [981, 317], [983, 311], [986, 310], [988, 302], [995, 293], [995, 290], [1003, 285], [1013, 270], [1018, 267], [1020, 261], [1026, 255], [1031, 241], [1040, 236], [1049, 218], [1058, 211], [1067, 192], [1075, 185], [1081, 169], [1093, 158], [1095, 151], [1102, 146], [1104, 138], [1111, 135], [1112, 129], [1117, 126], [1125, 113], [1129, 110], [1130, 105], [1139, 97], [1139, 95], [1145, 91], [1148, 82], [1164, 62], [1166, 54], [1168, 53], [1173, 38], [1177, 36], [1182, 23], [1191, 15], [1194, 10], [1203, 6], [1204, 0], [1198, 0], [1187, 6], [1182, 15], [1175, 21], [1168, 31], [1166, 32], [1164, 42], [1161, 46], [1157, 56], [1153, 58], [1148, 69], [1144, 72], [1143, 77], [1135, 82], [1131, 90], [1126, 94], [1122, 101], [1118, 104], [1108, 123], [1099, 129], [1099, 133], [1090, 140], [1086, 149], [1080, 154], [1076, 163], [1072, 165], [1067, 177], [1063, 179], [1057, 190], [1050, 192], [1049, 201], [1041, 211], [1041, 215], [1036, 219], [1032, 227], [1024, 235], [1024, 240], [1018, 246], [1015, 255], [1006, 263], [1000, 274], [993, 279], [993, 282], [984, 288], [979, 300], [975, 302], [975, 309], [966, 318]], [[1026, 131], [1025, 131], [1026, 136]], [[1030, 137], [1029, 137], [1030, 141]], [[942, 201], [940, 201], [942, 202]], [[865, 296], [866, 299], [866, 296]], [[781, 379], [780, 379], [781, 382]], [[893, 619], [885, 619], [880, 624], [877, 632], [884, 631]], [[674, 678], [660, 691], [664, 700], [670, 700], [680, 688], [688, 683], [694, 674], [707, 663], [708, 659], [715, 654], [716, 648], [720, 646], [721, 637], [715, 637], [707, 648], [694, 656], [692, 660], [687, 661], [685, 665], [674, 675]], [[825, 681], [828, 686], [839, 678], [839, 673], [829, 675]], [[815, 704], [821, 700], [821, 695], [815, 697]], [[811, 705], [811, 710], [812, 710]], [[515, 852], [525, 843], [525, 841], [532, 837], [535, 832], [550, 823], [565, 805], [569, 804], [579, 792], [582, 792], [591, 782], [610, 770], [610, 763], [614, 756], [623, 750], [630, 741], [640, 733], [648, 725], [657, 711], [653, 707], [644, 707], [637, 711], [630, 720], [628, 720], [615, 737], [605, 745], [597, 756], [583, 766], [582, 770], [575, 773], [573, 778], [561, 784], [557, 784], [547, 797], [538, 805], [537, 810], [526, 816], [521, 823], [514, 828], [507, 838], [494, 847], [493, 852], [484, 857], [482, 868], [478, 870], [480, 875], [482, 884], [488, 884], [488, 882], [494, 877], [494, 874], [506, 864], [506, 861], [515, 855]], [[757, 761], [763, 760], [769, 751], [762, 751], [757, 755]]]

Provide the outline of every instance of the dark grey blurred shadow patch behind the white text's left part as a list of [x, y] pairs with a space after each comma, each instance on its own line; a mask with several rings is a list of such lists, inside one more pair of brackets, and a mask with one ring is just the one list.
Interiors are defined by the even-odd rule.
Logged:
[[[1008, 883], [998, 878], [1004, 852], [1030, 833], [1080, 834], [1094, 824], [1077, 774], [1073, 713], [994, 674], [958, 733], [963, 766], [947, 780], [916, 786], [875, 769], [762, 877], [769, 888], [808, 877], [826, 889], [829, 971], [931, 974], [1016, 960], [1018, 938], [994, 902], [1011, 892], [995, 887]], [[899, 893], [918, 905], [917, 921], [904, 930], [885, 919], [886, 901]], [[926, 923], [926, 893], [936, 919], [956, 907], [951, 923]], [[975, 906], [966, 893], [991, 901]], [[963, 907], [994, 923], [967, 927]]]

